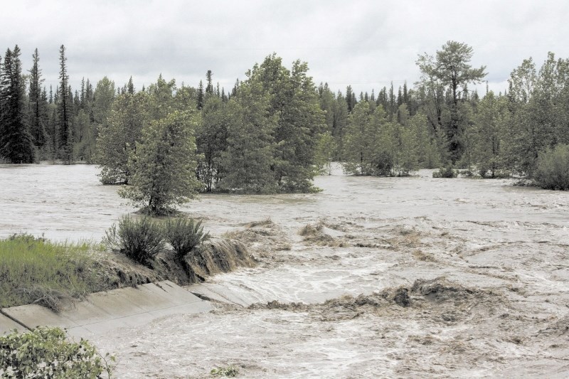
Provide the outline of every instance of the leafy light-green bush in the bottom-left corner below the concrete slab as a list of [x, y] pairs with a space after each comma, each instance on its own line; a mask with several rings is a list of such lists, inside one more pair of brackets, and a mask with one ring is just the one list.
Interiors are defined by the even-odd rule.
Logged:
[[[108, 355], [107, 355], [108, 356]], [[114, 357], [109, 357], [114, 362]], [[26, 333], [0, 336], [1, 378], [110, 378], [111, 367], [81, 339], [67, 340], [59, 328], [38, 326]]]

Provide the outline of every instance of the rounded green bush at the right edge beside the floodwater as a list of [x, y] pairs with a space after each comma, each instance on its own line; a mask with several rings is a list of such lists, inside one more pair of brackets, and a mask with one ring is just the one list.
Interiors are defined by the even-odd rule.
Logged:
[[560, 144], [539, 154], [534, 179], [541, 188], [569, 190], [569, 145]]

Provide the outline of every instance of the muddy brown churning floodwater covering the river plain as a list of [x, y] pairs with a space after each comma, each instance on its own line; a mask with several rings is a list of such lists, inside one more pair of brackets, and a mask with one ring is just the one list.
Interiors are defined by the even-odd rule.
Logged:
[[[134, 209], [96, 173], [0, 166], [0, 235], [99, 239]], [[211, 313], [93, 338], [117, 355], [117, 377], [230, 365], [243, 378], [569, 376], [569, 193], [430, 171], [336, 169], [315, 183], [321, 193], [189, 203], [259, 265], [189, 287], [225, 299]]]

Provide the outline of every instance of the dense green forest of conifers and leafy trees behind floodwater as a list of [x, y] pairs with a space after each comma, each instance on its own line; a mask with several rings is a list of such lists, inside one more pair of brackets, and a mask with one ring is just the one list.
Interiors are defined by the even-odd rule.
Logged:
[[357, 95], [316, 85], [307, 63], [287, 68], [275, 54], [228, 91], [211, 71], [197, 87], [162, 76], [146, 88], [132, 78], [117, 87], [105, 77], [73, 90], [65, 46], [59, 85], [47, 89], [38, 50], [24, 73], [15, 46], [0, 60], [0, 161], [99, 164], [102, 183], [133, 184], [124, 196], [151, 204], [164, 201], [149, 198], [156, 186], [179, 187], [170, 203], [198, 191], [313, 191], [331, 161], [356, 175], [442, 168], [538, 178], [568, 160], [569, 60], [549, 53], [537, 68], [528, 58], [508, 90], [480, 95], [469, 86], [484, 83], [486, 68], [472, 67], [473, 53], [449, 41], [418, 55], [413, 87]]

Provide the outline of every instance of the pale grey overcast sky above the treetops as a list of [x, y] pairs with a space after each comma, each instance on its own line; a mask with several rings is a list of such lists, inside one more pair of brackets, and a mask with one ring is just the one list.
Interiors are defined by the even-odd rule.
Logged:
[[197, 86], [207, 70], [227, 90], [275, 52], [287, 67], [307, 61], [333, 90], [377, 93], [392, 81], [412, 87], [418, 54], [453, 40], [474, 48], [472, 65], [486, 65], [490, 89], [503, 91], [524, 58], [538, 67], [548, 51], [569, 58], [568, 16], [564, 0], [18, 0], [2, 5], [0, 48], [18, 44], [26, 70], [38, 48], [55, 87], [65, 45], [74, 90], [105, 75], [117, 86], [132, 75], [140, 89], [160, 73]]

